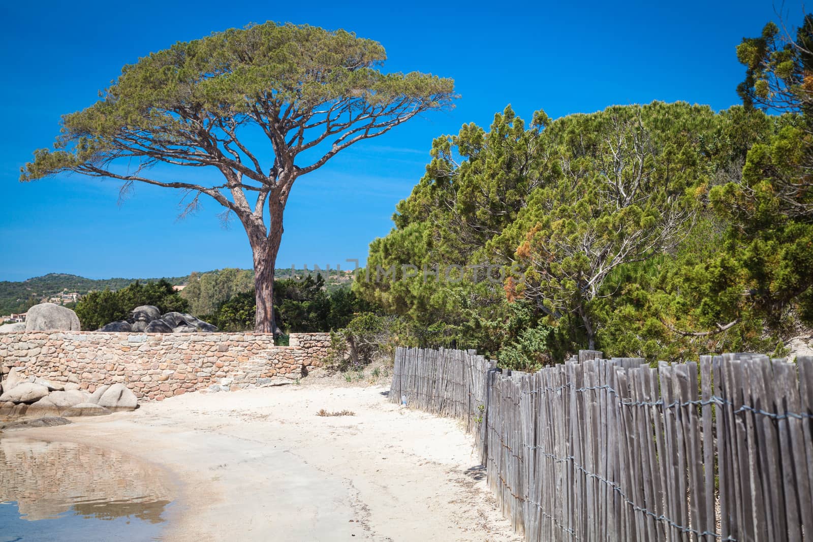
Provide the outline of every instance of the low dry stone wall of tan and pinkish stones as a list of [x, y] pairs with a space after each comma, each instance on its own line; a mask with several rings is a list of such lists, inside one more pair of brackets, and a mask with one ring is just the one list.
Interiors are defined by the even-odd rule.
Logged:
[[0, 335], [0, 371], [21, 367], [25, 375], [89, 392], [123, 383], [141, 399], [161, 401], [211, 386], [297, 379], [322, 365], [329, 345], [328, 333], [292, 333], [290, 346], [262, 333], [7, 333]]

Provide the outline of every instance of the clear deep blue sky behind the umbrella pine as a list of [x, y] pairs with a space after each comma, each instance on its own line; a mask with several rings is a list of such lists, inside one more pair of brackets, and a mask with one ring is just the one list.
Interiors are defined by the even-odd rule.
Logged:
[[[385, 46], [387, 71], [454, 78], [453, 111], [363, 141], [297, 180], [277, 267], [334, 267], [363, 260], [389, 232], [434, 137], [487, 126], [509, 103], [526, 119], [540, 108], [555, 118], [655, 99], [724, 109], [738, 102], [744, 73], [735, 47], [776, 18], [769, 0], [566, 3], [3, 2], [0, 280], [251, 266], [245, 232], [222, 228], [214, 201], [178, 220], [180, 193], [169, 189], [137, 186], [120, 206], [116, 181], [18, 181], [33, 150], [53, 142], [59, 115], [89, 106], [125, 63], [175, 41], [266, 20], [345, 28]], [[787, 8], [801, 19], [801, 2]]]

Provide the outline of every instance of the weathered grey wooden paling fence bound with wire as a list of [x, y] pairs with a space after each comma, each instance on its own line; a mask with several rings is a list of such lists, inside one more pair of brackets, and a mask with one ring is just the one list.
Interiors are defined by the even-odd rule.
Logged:
[[813, 541], [813, 358], [398, 349], [389, 397], [467, 424], [525, 540]]

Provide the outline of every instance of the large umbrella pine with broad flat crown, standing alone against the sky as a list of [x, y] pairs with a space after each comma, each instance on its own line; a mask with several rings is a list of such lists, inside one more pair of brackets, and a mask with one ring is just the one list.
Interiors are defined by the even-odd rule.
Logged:
[[[256, 331], [275, 332], [274, 267], [293, 182], [454, 100], [453, 80], [383, 73], [385, 59], [378, 42], [353, 33], [272, 22], [178, 42], [125, 66], [98, 102], [64, 115], [54, 150], [35, 151], [20, 180], [76, 172], [121, 180], [124, 192], [154, 184], [185, 191], [189, 209], [214, 198], [249, 238]], [[260, 145], [246, 137], [252, 129]], [[151, 169], [159, 164], [167, 167]], [[220, 174], [194, 184], [167, 173], [182, 167]]]

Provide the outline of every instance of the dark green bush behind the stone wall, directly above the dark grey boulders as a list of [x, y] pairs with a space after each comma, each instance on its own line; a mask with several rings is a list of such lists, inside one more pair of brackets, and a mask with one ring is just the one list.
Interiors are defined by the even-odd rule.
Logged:
[[126, 320], [137, 306], [154, 305], [161, 313], [186, 312], [189, 303], [167, 280], [141, 284], [136, 281], [118, 291], [91, 292], [76, 304], [76, 315], [83, 330], [94, 330], [107, 323]]

